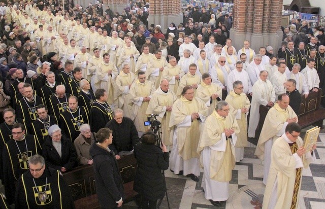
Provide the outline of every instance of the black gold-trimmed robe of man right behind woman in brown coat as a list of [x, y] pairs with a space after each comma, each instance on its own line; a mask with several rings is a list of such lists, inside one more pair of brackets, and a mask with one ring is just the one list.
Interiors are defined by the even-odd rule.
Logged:
[[62, 133], [66, 134], [72, 142], [79, 136], [80, 126], [85, 123], [89, 123], [85, 107], [78, 106], [74, 112], [68, 108], [59, 117], [59, 127], [62, 129]]

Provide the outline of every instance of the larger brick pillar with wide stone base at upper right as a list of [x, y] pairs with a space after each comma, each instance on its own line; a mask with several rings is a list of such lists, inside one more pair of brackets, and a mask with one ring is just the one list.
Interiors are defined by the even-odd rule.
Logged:
[[234, 0], [235, 22], [230, 38], [235, 48], [243, 48], [244, 40], [249, 40], [256, 53], [267, 45], [276, 53], [282, 41], [282, 3], [283, 0]]

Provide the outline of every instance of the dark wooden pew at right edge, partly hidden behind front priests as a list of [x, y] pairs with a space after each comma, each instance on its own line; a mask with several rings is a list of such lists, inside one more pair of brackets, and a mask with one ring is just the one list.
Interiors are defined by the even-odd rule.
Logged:
[[[322, 128], [323, 120], [325, 119], [325, 109], [320, 107], [321, 89], [317, 92], [309, 92], [307, 98], [301, 95], [301, 103], [298, 114], [298, 124], [305, 128], [309, 125], [319, 126]], [[259, 135], [261, 134], [264, 120], [270, 107], [259, 106], [259, 122], [255, 131], [255, 138], [249, 141], [257, 145]]]

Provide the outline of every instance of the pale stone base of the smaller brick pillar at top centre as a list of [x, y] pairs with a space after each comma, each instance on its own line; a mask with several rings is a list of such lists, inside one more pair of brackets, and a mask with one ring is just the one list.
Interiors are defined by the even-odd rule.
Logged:
[[166, 33], [167, 28], [172, 22], [175, 23], [176, 27], [183, 22], [183, 15], [181, 13], [178, 15], [150, 14], [148, 16], [148, 22], [148, 25], [161, 25], [162, 32]]

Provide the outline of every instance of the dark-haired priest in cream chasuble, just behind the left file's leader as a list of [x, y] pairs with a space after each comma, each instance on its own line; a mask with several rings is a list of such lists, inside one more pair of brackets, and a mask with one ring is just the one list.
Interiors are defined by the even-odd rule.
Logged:
[[181, 97], [174, 102], [169, 122], [173, 138], [169, 166], [175, 174], [198, 182], [200, 156], [197, 148], [208, 108], [204, 101], [194, 97], [193, 87], [185, 86], [181, 93]]

